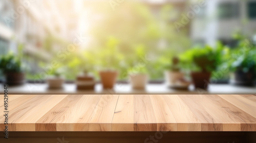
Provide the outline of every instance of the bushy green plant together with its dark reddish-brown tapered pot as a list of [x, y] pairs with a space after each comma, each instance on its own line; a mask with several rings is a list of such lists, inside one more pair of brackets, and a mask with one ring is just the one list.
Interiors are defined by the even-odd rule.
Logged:
[[211, 72], [221, 64], [222, 51], [223, 46], [218, 43], [216, 48], [195, 47], [180, 56], [183, 66], [191, 71], [195, 88], [208, 88]]

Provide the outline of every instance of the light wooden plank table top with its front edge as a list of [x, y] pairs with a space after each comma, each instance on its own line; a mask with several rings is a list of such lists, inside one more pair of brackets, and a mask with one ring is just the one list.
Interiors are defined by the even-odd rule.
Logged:
[[[4, 114], [4, 96], [0, 97]], [[256, 96], [9, 95], [9, 131], [256, 131]], [[4, 130], [5, 117], [0, 116]]]

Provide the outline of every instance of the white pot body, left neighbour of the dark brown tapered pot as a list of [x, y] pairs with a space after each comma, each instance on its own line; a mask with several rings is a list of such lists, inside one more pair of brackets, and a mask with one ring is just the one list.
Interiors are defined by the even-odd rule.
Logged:
[[165, 71], [165, 81], [168, 85], [174, 85], [180, 79], [184, 79], [184, 74], [179, 71]]

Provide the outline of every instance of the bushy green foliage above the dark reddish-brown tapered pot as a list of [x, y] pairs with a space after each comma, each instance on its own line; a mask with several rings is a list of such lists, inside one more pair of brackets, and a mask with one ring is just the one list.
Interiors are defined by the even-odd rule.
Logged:
[[180, 55], [183, 68], [193, 71], [211, 72], [218, 68], [222, 61], [223, 45], [216, 48], [209, 45], [195, 47]]

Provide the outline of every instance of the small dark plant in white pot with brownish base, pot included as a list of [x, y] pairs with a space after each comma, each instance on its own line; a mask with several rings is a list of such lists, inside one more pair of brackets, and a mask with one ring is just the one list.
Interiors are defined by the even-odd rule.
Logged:
[[184, 73], [180, 70], [179, 62], [178, 57], [172, 59], [172, 64], [168, 66], [169, 70], [164, 73], [165, 81], [169, 87], [187, 89], [190, 83], [185, 80]]

